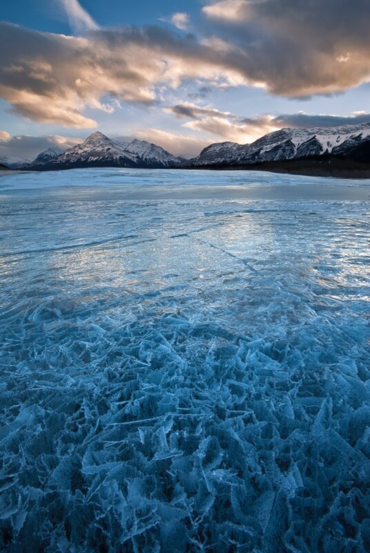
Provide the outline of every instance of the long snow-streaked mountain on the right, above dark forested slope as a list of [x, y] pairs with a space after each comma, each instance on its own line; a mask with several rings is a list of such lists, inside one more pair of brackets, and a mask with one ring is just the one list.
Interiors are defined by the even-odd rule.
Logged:
[[251, 144], [211, 144], [191, 165], [253, 165], [310, 156], [346, 156], [359, 144], [370, 143], [370, 123], [329, 128], [281, 129]]

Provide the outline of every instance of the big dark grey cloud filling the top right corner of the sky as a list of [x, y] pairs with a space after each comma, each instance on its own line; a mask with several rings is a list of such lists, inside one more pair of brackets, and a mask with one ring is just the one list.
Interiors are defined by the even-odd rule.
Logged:
[[202, 12], [245, 77], [271, 93], [331, 94], [370, 79], [368, 0], [223, 0]]

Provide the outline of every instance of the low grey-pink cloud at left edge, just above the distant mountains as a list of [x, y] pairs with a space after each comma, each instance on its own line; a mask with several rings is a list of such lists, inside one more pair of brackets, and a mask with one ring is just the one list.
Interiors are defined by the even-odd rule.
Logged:
[[0, 162], [1, 160], [10, 163], [27, 160], [32, 161], [41, 151], [47, 150], [48, 148], [59, 147], [61, 149], [67, 149], [82, 142], [79, 138], [70, 138], [61, 135], [10, 136], [9, 133], [6, 133], [6, 135], [8, 135], [8, 138], [3, 140], [1, 139], [0, 133]]

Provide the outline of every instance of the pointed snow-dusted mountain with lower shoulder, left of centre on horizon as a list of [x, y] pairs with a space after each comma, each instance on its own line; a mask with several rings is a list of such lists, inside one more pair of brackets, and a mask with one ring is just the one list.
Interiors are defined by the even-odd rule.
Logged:
[[46, 159], [43, 152], [30, 165], [32, 169], [72, 169], [77, 167], [176, 167], [180, 161], [163, 148], [132, 140], [118, 142], [97, 131], [81, 144]]

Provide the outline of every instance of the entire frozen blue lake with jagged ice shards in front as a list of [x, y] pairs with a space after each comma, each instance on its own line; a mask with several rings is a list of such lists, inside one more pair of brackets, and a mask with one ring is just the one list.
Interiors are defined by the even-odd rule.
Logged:
[[0, 178], [0, 550], [366, 553], [370, 181]]

